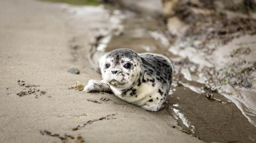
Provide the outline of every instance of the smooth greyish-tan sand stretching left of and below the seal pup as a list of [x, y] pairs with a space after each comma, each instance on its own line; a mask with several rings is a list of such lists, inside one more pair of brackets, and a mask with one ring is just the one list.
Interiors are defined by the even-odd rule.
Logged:
[[[147, 112], [107, 93], [68, 89], [76, 81], [100, 78], [85, 55], [90, 30], [106, 23], [103, 8], [82, 8], [87, 15], [81, 18], [67, 5], [33, 0], [0, 5], [1, 143], [202, 142], [173, 128], [180, 127], [167, 109]], [[67, 72], [71, 67], [80, 74]], [[20, 97], [21, 91], [28, 95]]]

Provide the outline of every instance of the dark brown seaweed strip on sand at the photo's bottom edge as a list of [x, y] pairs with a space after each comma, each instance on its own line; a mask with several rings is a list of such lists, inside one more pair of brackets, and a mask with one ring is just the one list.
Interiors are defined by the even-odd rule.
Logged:
[[62, 143], [69, 143], [69, 139], [71, 139], [72, 141], [76, 142], [76, 143], [84, 143], [85, 140], [81, 135], [77, 135], [77, 136], [72, 136], [72, 135], [67, 135], [65, 134], [64, 136], [60, 136], [57, 133], [51, 133], [49, 131], [47, 131], [46, 129], [43, 129], [42, 131], [40, 131], [41, 135], [48, 135], [48, 136], [52, 136], [52, 137], [57, 137], [61, 140]]

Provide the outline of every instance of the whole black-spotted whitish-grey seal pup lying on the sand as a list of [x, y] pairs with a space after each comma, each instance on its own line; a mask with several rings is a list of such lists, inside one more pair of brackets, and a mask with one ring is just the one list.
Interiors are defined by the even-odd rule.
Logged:
[[164, 107], [173, 78], [173, 66], [167, 57], [116, 49], [100, 57], [99, 68], [102, 80], [89, 80], [83, 91], [113, 92], [150, 111]]

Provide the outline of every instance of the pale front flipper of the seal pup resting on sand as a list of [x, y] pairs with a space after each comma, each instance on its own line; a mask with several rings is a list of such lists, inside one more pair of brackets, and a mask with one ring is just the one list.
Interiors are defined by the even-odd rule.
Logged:
[[104, 82], [104, 80], [94, 80], [91, 79], [89, 80], [88, 84], [83, 88], [83, 91], [89, 93], [89, 92], [110, 92], [111, 89], [109, 87], [108, 84], [106, 84], [106, 82]]

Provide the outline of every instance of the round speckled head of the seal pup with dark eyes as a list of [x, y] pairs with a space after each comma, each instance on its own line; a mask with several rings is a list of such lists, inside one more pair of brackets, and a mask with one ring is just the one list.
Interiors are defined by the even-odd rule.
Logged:
[[113, 50], [100, 64], [103, 80], [120, 90], [130, 89], [144, 72], [141, 57], [131, 49]]

